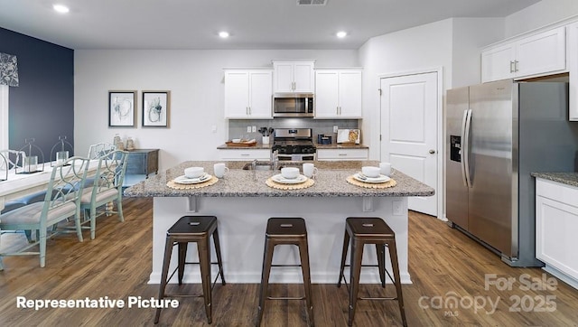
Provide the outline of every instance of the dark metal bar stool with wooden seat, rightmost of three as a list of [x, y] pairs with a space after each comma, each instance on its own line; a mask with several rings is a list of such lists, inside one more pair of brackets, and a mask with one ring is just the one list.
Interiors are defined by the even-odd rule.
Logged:
[[[351, 239], [351, 253], [350, 265], [345, 265], [345, 258], [347, 256], [347, 248]], [[361, 259], [363, 257], [363, 248], [366, 244], [375, 244], [378, 251], [378, 265], [362, 265]], [[385, 264], [385, 247], [389, 248], [389, 257], [391, 258], [391, 266], [393, 268], [394, 277], [389, 275]], [[399, 304], [399, 311], [401, 312], [401, 319], [404, 326], [407, 326], [406, 311], [404, 309], [404, 298], [401, 293], [401, 280], [399, 277], [399, 266], [397, 264], [396, 251], [396, 234], [381, 218], [377, 217], [349, 217], [345, 223], [345, 236], [343, 238], [343, 251], [341, 252], [341, 266], [340, 266], [340, 280], [337, 286], [340, 287], [341, 279], [345, 281], [343, 275], [343, 268], [350, 266], [350, 285], [348, 291], [350, 293], [349, 306], [349, 321], [348, 325], [353, 324], [355, 316], [355, 308], [357, 300], [397, 300]], [[386, 287], [386, 274], [396, 286], [396, 297], [360, 297], [359, 291], [359, 275], [362, 266], [377, 266], [379, 268], [379, 279], [381, 286]], [[347, 285], [347, 281], [345, 281]]]

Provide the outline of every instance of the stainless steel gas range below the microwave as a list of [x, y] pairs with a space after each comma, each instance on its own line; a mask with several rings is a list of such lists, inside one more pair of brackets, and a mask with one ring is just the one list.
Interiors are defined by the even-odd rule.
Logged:
[[317, 150], [313, 145], [311, 128], [277, 128], [273, 139], [273, 153], [279, 160], [312, 161]]

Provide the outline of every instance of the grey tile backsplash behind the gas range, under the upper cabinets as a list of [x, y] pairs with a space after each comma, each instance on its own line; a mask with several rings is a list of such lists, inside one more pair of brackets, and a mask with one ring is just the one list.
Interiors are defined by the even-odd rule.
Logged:
[[317, 140], [317, 135], [333, 135], [333, 143], [337, 139], [337, 134], [333, 133], [333, 126], [338, 128], [358, 128], [358, 119], [313, 119], [313, 118], [275, 118], [275, 119], [229, 119], [228, 120], [228, 139], [233, 138], [255, 138], [261, 143], [261, 134], [259, 132], [247, 133], [247, 126], [273, 128], [312, 128], [313, 141]]

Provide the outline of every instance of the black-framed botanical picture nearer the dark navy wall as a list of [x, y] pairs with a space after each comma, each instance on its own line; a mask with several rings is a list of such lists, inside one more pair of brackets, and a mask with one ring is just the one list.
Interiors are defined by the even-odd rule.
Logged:
[[135, 127], [136, 91], [108, 91], [108, 126]]

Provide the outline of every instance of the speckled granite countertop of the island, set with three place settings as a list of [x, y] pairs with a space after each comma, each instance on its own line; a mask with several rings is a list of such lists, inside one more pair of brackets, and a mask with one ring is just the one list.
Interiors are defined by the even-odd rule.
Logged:
[[[125, 190], [128, 197], [405, 197], [431, 196], [433, 188], [418, 182], [404, 173], [396, 172], [392, 178], [395, 187], [387, 189], [366, 189], [346, 181], [353, 173], [358, 173], [364, 165], [378, 165], [377, 161], [319, 162], [315, 166], [319, 173], [315, 183], [303, 190], [277, 190], [266, 185], [267, 178], [279, 171], [245, 171], [242, 167], [250, 162], [227, 162], [230, 169], [219, 182], [200, 189], [174, 190], [167, 182], [183, 174], [186, 167], [202, 166], [205, 172], [213, 173], [213, 164], [218, 162], [190, 161], [181, 163], [165, 172], [150, 177]], [[290, 164], [290, 163], [280, 163]], [[255, 174], [254, 174], [255, 173]], [[254, 178], [255, 177], [255, 178]]]

